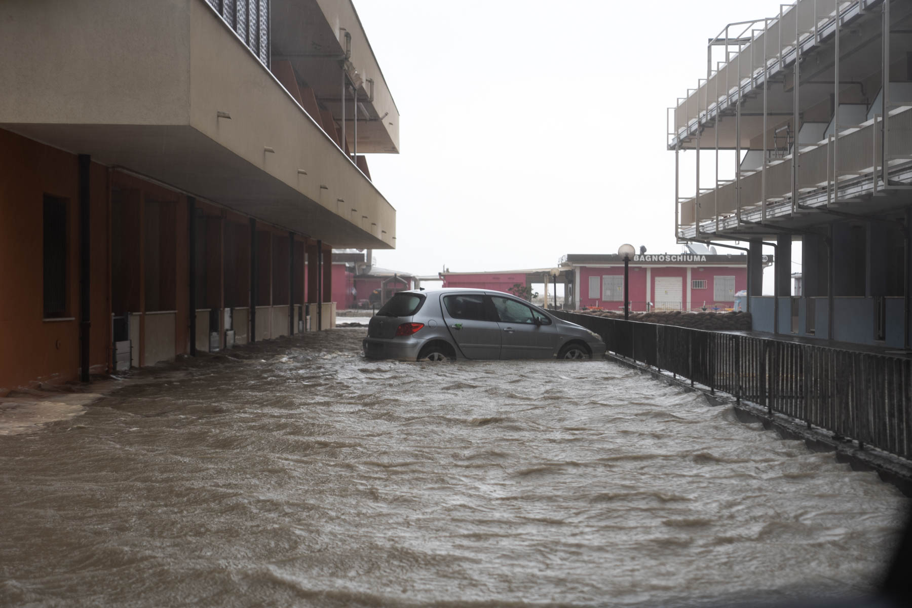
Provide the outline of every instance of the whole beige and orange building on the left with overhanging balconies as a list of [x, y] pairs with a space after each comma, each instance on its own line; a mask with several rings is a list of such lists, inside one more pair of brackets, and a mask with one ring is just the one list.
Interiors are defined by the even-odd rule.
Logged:
[[350, 0], [13, 0], [0, 56], [0, 390], [330, 326], [395, 246]]

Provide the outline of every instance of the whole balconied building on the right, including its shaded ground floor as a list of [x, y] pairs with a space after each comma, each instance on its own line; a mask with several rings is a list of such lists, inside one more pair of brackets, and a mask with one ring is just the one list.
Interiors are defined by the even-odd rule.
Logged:
[[[724, 26], [707, 53], [696, 87], [669, 108], [678, 241], [749, 243], [755, 330], [907, 348], [912, 3], [799, 0]], [[681, 174], [693, 150], [696, 170]], [[733, 179], [720, 180], [720, 158]]]

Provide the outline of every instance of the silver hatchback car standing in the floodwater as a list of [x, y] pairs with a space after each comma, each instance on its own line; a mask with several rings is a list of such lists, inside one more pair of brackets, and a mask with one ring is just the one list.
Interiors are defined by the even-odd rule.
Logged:
[[372, 359], [585, 359], [605, 354], [595, 332], [511, 294], [484, 289], [399, 292], [370, 319]]

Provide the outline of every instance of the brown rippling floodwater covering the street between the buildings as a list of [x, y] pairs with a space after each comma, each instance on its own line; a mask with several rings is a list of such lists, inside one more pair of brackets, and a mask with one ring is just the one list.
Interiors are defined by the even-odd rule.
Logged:
[[605, 361], [364, 328], [142, 371], [0, 435], [0, 604], [709, 605], [870, 591], [908, 500]]

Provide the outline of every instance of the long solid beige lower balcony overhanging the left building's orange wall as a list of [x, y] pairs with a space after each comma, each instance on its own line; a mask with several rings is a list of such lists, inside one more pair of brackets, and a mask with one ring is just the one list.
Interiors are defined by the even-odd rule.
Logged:
[[[273, 23], [285, 4], [315, 5], [274, 1]], [[395, 246], [396, 211], [217, 6], [16, 2], [0, 17], [0, 128], [337, 247]], [[375, 84], [362, 116], [384, 95]]]

